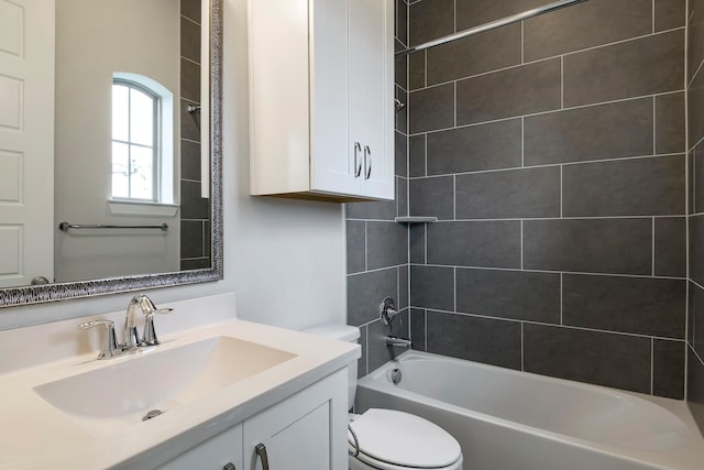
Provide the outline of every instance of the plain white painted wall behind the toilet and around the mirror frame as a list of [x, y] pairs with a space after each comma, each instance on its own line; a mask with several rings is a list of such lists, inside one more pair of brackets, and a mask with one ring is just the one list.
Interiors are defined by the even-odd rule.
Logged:
[[[234, 291], [245, 320], [288, 328], [343, 323], [342, 206], [249, 196], [246, 0], [226, 0], [224, 13], [224, 280], [147, 294], [158, 305]], [[0, 308], [0, 329], [119, 310], [132, 295]]]

